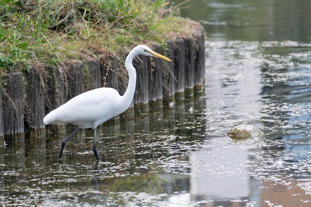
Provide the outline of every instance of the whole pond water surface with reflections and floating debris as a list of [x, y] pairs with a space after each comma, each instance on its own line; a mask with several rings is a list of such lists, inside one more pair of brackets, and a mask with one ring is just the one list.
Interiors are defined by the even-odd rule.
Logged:
[[[311, 206], [311, 3], [183, 6], [207, 33], [205, 91], [105, 123], [99, 163], [91, 130], [70, 139], [61, 161], [74, 129], [0, 148], [0, 206]], [[233, 140], [238, 124], [264, 134]]]

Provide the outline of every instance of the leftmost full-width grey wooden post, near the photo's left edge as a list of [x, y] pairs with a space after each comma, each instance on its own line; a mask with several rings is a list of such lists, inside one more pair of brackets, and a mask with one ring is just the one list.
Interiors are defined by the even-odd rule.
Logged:
[[12, 72], [5, 78], [3, 91], [3, 126], [6, 142], [24, 140], [23, 88], [20, 72]]

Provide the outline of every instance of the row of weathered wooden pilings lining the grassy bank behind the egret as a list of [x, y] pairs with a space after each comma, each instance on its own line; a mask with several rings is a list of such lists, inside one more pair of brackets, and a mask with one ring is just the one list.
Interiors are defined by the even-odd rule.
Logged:
[[[135, 110], [161, 107], [192, 96], [201, 92], [204, 86], [203, 30], [192, 36], [166, 41], [163, 51], [160, 45], [152, 45], [151, 48], [172, 62], [164, 63], [146, 56], [134, 60], [136, 92], [130, 109], [125, 112], [130, 115]], [[120, 77], [118, 70], [121, 66], [118, 64], [116, 57], [105, 56], [84, 64], [73, 62], [60, 67], [46, 67], [45, 71], [31, 69], [27, 74], [8, 74], [0, 90], [0, 146], [45, 135], [44, 116], [84, 91], [113, 87], [122, 95], [127, 80]], [[51, 130], [57, 128], [54, 126]]]

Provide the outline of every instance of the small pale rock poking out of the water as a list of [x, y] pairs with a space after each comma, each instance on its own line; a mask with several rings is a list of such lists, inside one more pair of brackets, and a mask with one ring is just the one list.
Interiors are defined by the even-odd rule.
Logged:
[[233, 127], [233, 129], [227, 133], [230, 138], [239, 139], [246, 139], [260, 134], [262, 134], [262, 132], [259, 129], [248, 124], [241, 124]]

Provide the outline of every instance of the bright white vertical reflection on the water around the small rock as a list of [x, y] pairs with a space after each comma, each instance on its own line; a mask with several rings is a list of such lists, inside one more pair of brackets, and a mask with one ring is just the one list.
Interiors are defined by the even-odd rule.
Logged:
[[[190, 156], [191, 194], [205, 200], [242, 201], [250, 194], [248, 145], [225, 136], [241, 123], [260, 127], [261, 58], [258, 43], [207, 42], [207, 138]], [[234, 58], [235, 57], [235, 58]]]

